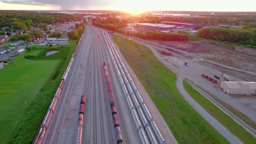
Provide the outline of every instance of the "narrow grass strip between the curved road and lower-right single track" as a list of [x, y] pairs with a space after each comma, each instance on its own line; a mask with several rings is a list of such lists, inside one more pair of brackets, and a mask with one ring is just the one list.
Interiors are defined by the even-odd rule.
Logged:
[[187, 81], [183, 81], [186, 91], [199, 103], [206, 111], [208, 111], [214, 118], [222, 123], [232, 134], [236, 135], [244, 143], [255, 143], [256, 139], [253, 135], [248, 133], [243, 127], [237, 124], [232, 118], [221, 111], [217, 106], [211, 103], [208, 99], [203, 97]]

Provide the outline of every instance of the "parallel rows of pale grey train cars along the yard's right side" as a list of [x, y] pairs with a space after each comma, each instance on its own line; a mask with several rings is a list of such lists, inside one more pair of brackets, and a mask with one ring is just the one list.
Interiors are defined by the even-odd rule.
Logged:
[[166, 143], [113, 43], [106, 33], [104, 36], [142, 143]]

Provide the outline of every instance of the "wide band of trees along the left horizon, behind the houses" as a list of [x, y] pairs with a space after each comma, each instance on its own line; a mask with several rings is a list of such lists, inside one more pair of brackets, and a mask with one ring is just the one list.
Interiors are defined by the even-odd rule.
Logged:
[[[25, 21], [32, 21], [32, 26], [47, 25], [56, 22], [68, 22], [68, 21], [79, 21], [83, 17], [78, 15], [60, 14], [60, 13], [35, 13], [30, 11], [0, 11], [0, 27], [11, 27], [13, 26], [14, 20], [20, 23], [26, 23]], [[26, 23], [27, 24], [27, 23]]]

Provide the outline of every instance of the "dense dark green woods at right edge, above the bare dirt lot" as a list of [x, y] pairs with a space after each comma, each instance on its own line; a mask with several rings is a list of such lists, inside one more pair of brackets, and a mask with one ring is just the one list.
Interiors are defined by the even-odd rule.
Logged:
[[252, 29], [207, 27], [201, 28], [197, 32], [197, 36], [206, 39], [256, 46], [256, 31]]

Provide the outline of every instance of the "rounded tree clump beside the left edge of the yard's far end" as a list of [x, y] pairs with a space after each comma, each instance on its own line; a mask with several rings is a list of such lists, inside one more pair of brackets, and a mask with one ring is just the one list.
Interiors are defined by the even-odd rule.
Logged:
[[84, 33], [85, 25], [84, 23], [75, 23], [75, 29], [67, 33], [69, 39], [80, 39], [81, 35]]

